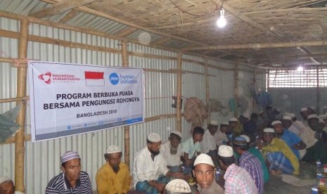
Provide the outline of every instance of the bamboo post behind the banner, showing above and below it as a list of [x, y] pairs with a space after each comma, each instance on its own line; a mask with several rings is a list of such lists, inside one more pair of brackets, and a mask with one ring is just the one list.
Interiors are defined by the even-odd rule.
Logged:
[[[128, 67], [127, 41], [122, 41], [122, 67]], [[129, 166], [129, 126], [124, 126], [124, 163]]]

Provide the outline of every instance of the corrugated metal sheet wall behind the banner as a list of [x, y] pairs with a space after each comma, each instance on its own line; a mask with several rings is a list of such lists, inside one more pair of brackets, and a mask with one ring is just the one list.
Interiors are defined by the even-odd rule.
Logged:
[[[0, 27], [3, 30], [19, 31], [19, 22], [0, 18]], [[30, 24], [30, 34], [53, 39], [62, 39], [82, 44], [94, 46], [105, 46], [108, 48], [120, 48], [120, 42], [113, 39], [98, 37], [96, 35], [82, 32], [72, 32], [55, 27]], [[18, 40], [0, 37], [0, 48], [6, 55], [18, 57]], [[158, 56], [169, 56], [177, 59], [177, 53], [163, 51], [158, 48], [150, 48], [141, 44], [129, 43], [128, 51], [137, 53], [149, 53]], [[5, 57], [5, 56], [4, 56]], [[53, 44], [39, 42], [28, 43], [28, 59], [47, 60], [66, 63], [81, 63], [103, 66], [122, 66], [122, 56], [120, 53], [108, 53], [103, 51], [91, 51], [82, 48], [70, 48]], [[204, 58], [199, 56], [183, 55], [183, 58], [204, 62]], [[222, 64], [230, 66], [229, 64]], [[169, 70], [177, 68], [177, 60], [165, 58], [146, 58], [143, 56], [129, 56], [130, 67], [143, 67], [156, 70]], [[198, 63], [183, 62], [182, 69], [205, 73], [205, 67]], [[16, 96], [17, 70], [11, 64], [0, 63], [0, 98], [14, 98]], [[211, 70], [211, 74], [217, 77], [210, 77], [210, 90], [214, 91], [210, 97], [229, 98], [233, 96], [233, 72], [220, 72]], [[167, 72], [144, 72], [145, 75], [145, 97], [146, 97], [146, 117], [157, 115], [174, 114], [176, 110], [171, 108], [172, 96], [176, 96], [177, 74]], [[223, 82], [218, 86], [216, 82]], [[212, 86], [211, 86], [212, 85]], [[216, 93], [216, 91], [218, 93]], [[224, 91], [224, 93], [219, 93]], [[28, 94], [27, 94], [28, 95]], [[188, 98], [197, 97], [203, 101], [206, 98], [205, 76], [192, 73], [183, 75], [182, 96]], [[13, 108], [15, 103], [0, 103], [0, 112]], [[30, 107], [27, 104], [26, 134], [30, 134]], [[188, 138], [190, 125], [183, 121], [183, 136]], [[134, 124], [130, 127], [130, 166], [132, 167], [133, 156], [137, 150], [146, 145], [146, 136], [154, 131], [162, 136], [166, 141], [169, 130], [176, 129], [175, 118], [158, 119], [153, 122]], [[92, 186], [96, 190], [95, 176], [97, 170], [105, 162], [103, 153], [110, 144], [117, 144], [124, 148], [124, 130], [122, 127], [114, 129], [104, 129], [91, 132], [58, 138], [50, 141], [25, 143], [25, 189], [26, 193], [44, 193], [46, 184], [56, 174], [60, 173], [59, 158], [67, 150], [77, 150], [82, 157], [82, 170], [89, 173]], [[0, 168], [2, 174], [13, 177], [15, 161], [14, 144], [0, 145]]]

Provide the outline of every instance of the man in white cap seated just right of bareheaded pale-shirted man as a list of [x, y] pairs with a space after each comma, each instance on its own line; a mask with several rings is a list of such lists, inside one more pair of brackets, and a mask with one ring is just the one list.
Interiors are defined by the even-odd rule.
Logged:
[[210, 123], [207, 125], [207, 130], [203, 135], [203, 141], [200, 142], [201, 153], [206, 153], [210, 155], [213, 161], [217, 162], [217, 146], [216, 139], [218, 129], [218, 122], [210, 120]]

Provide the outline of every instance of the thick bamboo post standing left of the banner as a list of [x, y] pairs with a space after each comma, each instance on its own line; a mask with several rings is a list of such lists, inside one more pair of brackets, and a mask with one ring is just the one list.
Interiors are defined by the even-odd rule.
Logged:
[[[20, 37], [18, 47], [18, 58], [27, 58], [28, 43], [28, 19], [20, 21]], [[26, 96], [27, 68], [18, 67], [17, 73], [17, 98]], [[19, 102], [21, 103], [21, 102]], [[18, 113], [16, 122], [20, 124], [20, 129], [15, 134], [15, 190], [25, 192], [24, 186], [24, 157], [25, 157], [25, 111], [26, 105], [22, 103], [22, 108]]]

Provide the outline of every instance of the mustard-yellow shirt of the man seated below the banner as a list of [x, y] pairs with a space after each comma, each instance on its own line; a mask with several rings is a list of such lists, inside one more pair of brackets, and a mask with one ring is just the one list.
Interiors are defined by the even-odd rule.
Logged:
[[108, 162], [106, 162], [96, 174], [98, 194], [127, 193], [131, 186], [131, 181], [129, 168], [122, 162], [120, 162], [120, 170], [117, 174], [115, 174]]

